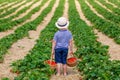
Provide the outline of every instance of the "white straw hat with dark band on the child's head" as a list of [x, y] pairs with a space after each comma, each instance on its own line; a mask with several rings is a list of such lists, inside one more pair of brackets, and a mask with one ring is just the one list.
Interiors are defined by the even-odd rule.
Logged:
[[55, 25], [59, 29], [67, 28], [69, 26], [69, 21], [65, 17], [60, 17]]

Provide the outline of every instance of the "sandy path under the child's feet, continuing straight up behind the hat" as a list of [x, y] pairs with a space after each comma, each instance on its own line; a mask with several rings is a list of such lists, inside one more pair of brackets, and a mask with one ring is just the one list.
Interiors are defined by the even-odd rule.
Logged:
[[[68, 18], [68, 7], [69, 7], [68, 0], [66, 0], [63, 14], [63, 16], [66, 18]], [[73, 45], [73, 52], [75, 51], [76, 47], [75, 45]], [[68, 55], [68, 57], [70, 57], [70, 55]], [[79, 75], [79, 72], [75, 68], [67, 67], [67, 70], [68, 70], [67, 76], [60, 75], [58, 77], [55, 74], [53, 74], [50, 80], [80, 80], [81, 76]]]

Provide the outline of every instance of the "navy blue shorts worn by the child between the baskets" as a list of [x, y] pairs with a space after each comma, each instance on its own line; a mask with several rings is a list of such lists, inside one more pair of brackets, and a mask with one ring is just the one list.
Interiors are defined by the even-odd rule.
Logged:
[[62, 63], [66, 64], [68, 55], [68, 49], [67, 48], [57, 48], [55, 49], [55, 62], [56, 63]]

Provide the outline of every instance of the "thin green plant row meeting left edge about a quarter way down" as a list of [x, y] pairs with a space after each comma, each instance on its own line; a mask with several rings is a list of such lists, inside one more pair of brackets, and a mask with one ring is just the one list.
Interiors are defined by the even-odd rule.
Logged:
[[[15, 15], [13, 15], [13, 16], [10, 16], [10, 17], [8, 17], [8, 18], [3, 18], [3, 19], [0, 19], [0, 23], [5, 23], [6, 21], [10, 21], [10, 20], [12, 20], [13, 18], [16, 18], [16, 17], [18, 17], [20, 14], [22, 14], [22, 13], [25, 13], [28, 9], [30, 9], [31, 7], [32, 7], [32, 5], [33, 4], [35, 4], [35, 3], [37, 3], [38, 2], [38, 0], [35, 0], [32, 4], [30, 4], [29, 6], [27, 6], [27, 7], [24, 7], [23, 9], [21, 9], [20, 11], [18, 11]], [[26, 2], [26, 3], [28, 3], [28, 2]], [[25, 3], [24, 3], [25, 4]]]

